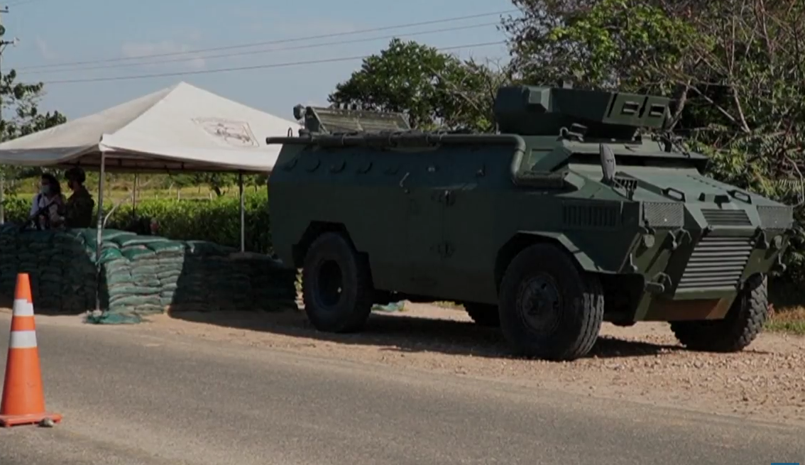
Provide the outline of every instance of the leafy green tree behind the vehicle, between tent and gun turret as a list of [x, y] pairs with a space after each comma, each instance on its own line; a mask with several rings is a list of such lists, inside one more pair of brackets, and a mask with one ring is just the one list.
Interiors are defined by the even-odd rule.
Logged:
[[379, 55], [363, 60], [349, 80], [337, 84], [328, 101], [406, 113], [411, 125], [422, 130], [490, 130], [490, 89], [505, 76], [434, 47], [393, 39]]

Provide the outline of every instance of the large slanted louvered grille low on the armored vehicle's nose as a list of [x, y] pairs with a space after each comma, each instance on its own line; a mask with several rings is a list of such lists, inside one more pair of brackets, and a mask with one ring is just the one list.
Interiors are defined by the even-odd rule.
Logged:
[[734, 289], [752, 250], [749, 237], [704, 237], [693, 249], [676, 289]]

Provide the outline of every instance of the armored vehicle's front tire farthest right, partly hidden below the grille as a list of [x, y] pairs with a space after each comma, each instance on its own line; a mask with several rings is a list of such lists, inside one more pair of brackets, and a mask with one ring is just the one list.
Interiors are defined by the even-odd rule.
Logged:
[[765, 276], [746, 280], [724, 319], [675, 321], [671, 331], [691, 350], [740, 352], [758, 337], [769, 317], [769, 291]]

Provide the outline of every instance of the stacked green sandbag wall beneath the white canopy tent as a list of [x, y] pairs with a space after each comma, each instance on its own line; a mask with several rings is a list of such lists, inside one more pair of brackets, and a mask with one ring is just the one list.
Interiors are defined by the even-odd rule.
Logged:
[[[10, 302], [20, 272], [31, 276], [40, 311], [94, 310], [96, 230], [0, 229], [0, 295]], [[164, 311], [278, 310], [295, 307], [296, 272], [256, 253], [204, 241], [170, 241], [104, 230], [99, 296], [92, 323], [136, 323]]]

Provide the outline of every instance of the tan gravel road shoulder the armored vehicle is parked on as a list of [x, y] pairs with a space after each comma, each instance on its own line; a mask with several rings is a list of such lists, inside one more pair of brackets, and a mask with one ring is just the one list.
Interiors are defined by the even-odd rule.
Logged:
[[[74, 316], [39, 318], [80, 324]], [[464, 311], [411, 303], [375, 312], [352, 335], [319, 333], [301, 311], [181, 312], [132, 330], [805, 425], [805, 337], [795, 335], [764, 333], [744, 352], [713, 354], [679, 346], [667, 323], [605, 324], [590, 356], [555, 363], [508, 356], [500, 332], [477, 327]]]

